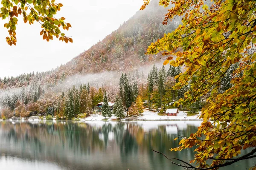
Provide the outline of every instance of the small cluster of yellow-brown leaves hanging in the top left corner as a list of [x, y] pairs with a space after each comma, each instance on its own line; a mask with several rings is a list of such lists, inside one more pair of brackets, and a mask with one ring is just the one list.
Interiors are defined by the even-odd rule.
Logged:
[[66, 23], [64, 17], [55, 17], [63, 5], [55, 3], [55, 0], [2, 0], [0, 18], [7, 20], [4, 27], [8, 29], [9, 36], [6, 42], [9, 45], [16, 45], [16, 25], [18, 17], [23, 17], [24, 23], [40, 23], [42, 30], [40, 35], [44, 40], [53, 40], [53, 37], [60, 41], [73, 42], [72, 38], [66, 37], [61, 31], [69, 30], [70, 23]]

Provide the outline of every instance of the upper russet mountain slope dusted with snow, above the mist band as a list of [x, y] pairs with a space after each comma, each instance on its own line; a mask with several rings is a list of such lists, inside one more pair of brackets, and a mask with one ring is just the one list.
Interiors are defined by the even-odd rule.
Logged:
[[129, 71], [140, 65], [157, 62], [160, 55], [145, 55], [148, 45], [163, 37], [164, 33], [172, 31], [180, 23], [177, 19], [163, 26], [166, 11], [167, 9], [159, 6], [157, 1], [151, 1], [144, 11], [138, 11], [116, 31], [65, 65], [47, 72], [5, 77], [0, 79], [0, 88], [19, 88], [31, 84], [49, 87], [75, 74]]

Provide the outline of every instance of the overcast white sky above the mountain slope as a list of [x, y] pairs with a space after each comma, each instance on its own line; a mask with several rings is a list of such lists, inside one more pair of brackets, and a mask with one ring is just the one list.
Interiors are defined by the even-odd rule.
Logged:
[[119, 28], [143, 4], [143, 0], [56, 0], [60, 2], [64, 5], [60, 16], [72, 25], [65, 33], [73, 43], [47, 42], [40, 36], [39, 23], [30, 26], [19, 18], [17, 45], [9, 46], [8, 30], [3, 28], [8, 21], [0, 20], [0, 77], [47, 71], [70, 61]]

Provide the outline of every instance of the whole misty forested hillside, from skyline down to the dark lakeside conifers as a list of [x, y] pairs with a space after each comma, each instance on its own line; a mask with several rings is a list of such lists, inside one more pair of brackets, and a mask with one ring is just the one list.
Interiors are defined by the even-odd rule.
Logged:
[[[75, 100], [74, 89], [79, 89], [80, 85], [86, 87], [88, 95], [84, 96], [84, 101], [88, 101], [90, 108], [85, 110], [91, 113], [97, 102], [102, 101], [104, 91], [107, 91], [108, 99], [113, 102], [115, 94], [118, 93], [122, 72], [127, 73], [129, 79], [133, 74], [137, 75], [137, 79], [140, 77], [138, 84], [146, 82], [151, 65], [163, 62], [160, 54], [145, 55], [148, 45], [162, 38], [164, 33], [172, 31], [180, 23], [177, 18], [163, 26], [166, 11], [166, 8], [158, 6], [157, 1], [152, 1], [146, 10], [138, 11], [116, 31], [70, 62], [47, 72], [32, 72], [0, 79], [2, 115], [10, 117], [14, 111], [22, 116], [37, 113], [55, 115], [60, 101], [64, 102], [63, 105], [67, 104], [64, 98], [71, 95], [69, 89], [73, 88]], [[139, 71], [137, 68], [140, 68]], [[80, 93], [81, 89], [79, 96]]]

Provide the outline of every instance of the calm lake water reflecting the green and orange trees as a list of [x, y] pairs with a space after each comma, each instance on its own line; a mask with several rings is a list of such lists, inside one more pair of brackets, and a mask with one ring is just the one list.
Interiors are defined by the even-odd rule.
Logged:
[[[151, 149], [189, 161], [193, 148], [170, 152], [200, 121], [0, 122], [1, 170], [183, 170]], [[245, 152], [244, 152], [245, 153]], [[221, 170], [245, 170], [255, 160]]]

